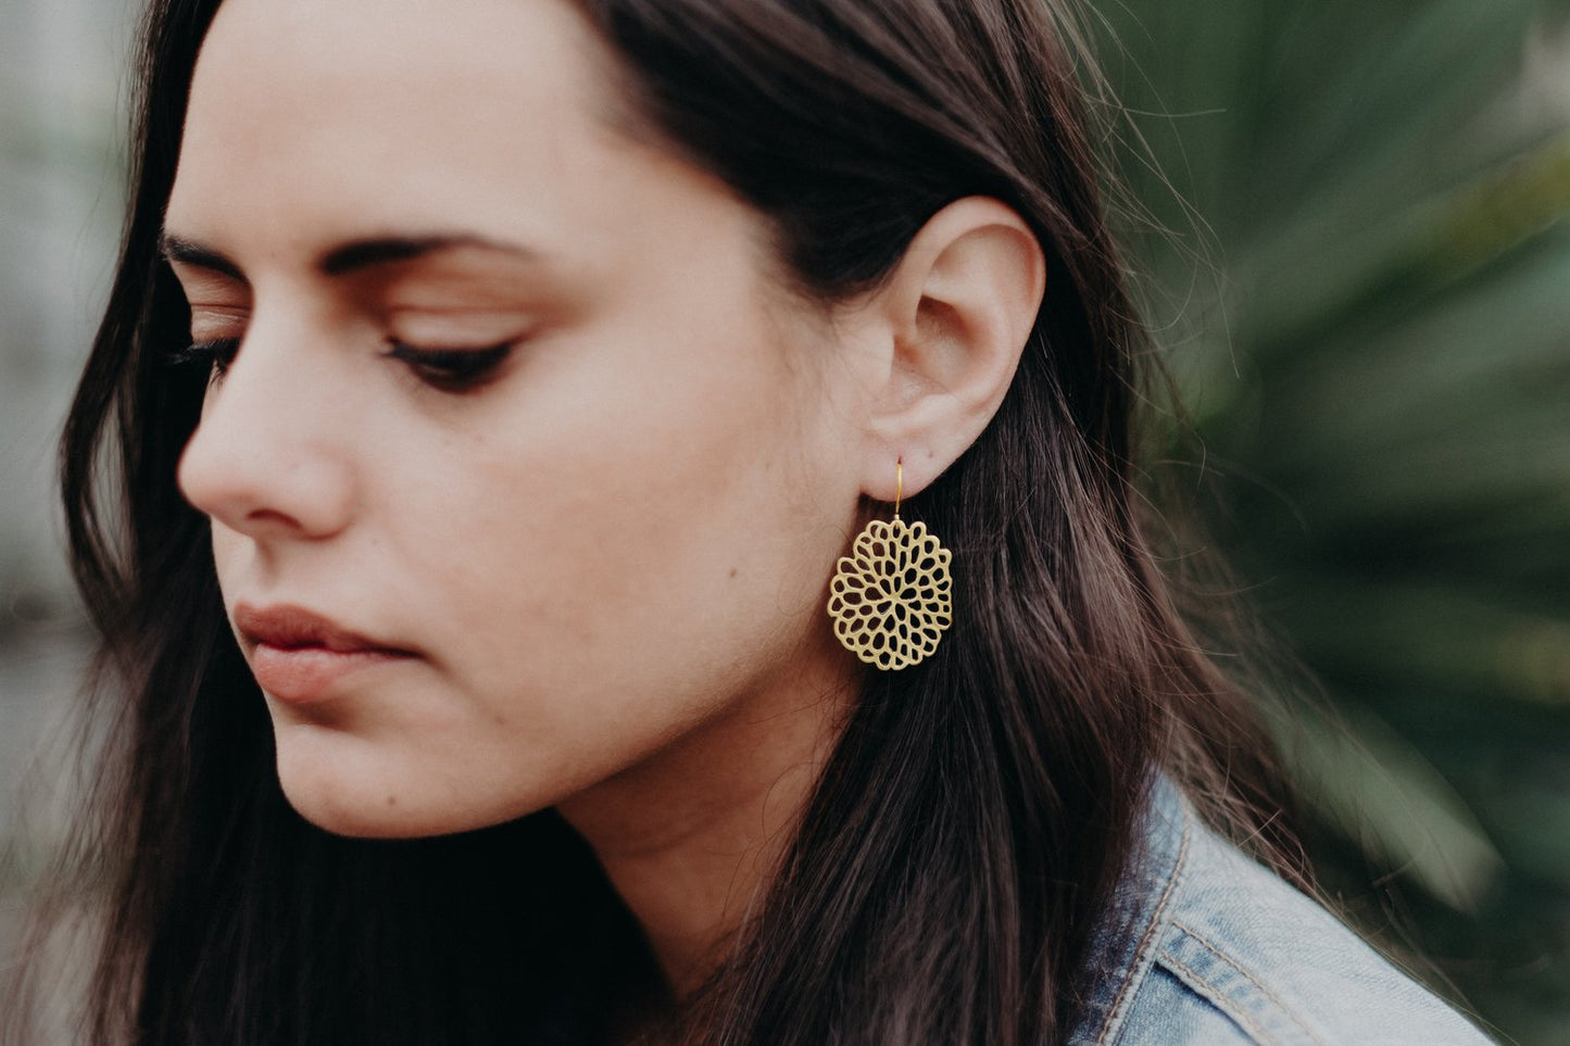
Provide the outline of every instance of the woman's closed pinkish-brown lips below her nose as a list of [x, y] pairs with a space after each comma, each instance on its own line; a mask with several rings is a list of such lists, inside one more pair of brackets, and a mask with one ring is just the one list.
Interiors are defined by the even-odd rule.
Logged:
[[341, 693], [352, 675], [408, 661], [411, 650], [385, 646], [300, 606], [234, 608], [251, 672], [270, 696], [311, 704]]

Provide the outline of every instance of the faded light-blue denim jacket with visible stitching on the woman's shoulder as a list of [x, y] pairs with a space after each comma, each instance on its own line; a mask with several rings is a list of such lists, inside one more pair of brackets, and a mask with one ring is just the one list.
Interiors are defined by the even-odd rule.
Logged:
[[1069, 1046], [1485, 1046], [1157, 777]]

